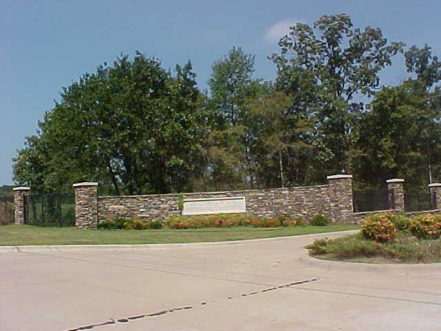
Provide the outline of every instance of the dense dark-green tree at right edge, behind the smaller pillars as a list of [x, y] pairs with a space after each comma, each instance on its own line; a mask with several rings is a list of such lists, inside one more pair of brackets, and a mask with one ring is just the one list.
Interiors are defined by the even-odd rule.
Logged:
[[420, 80], [376, 94], [353, 155], [360, 185], [379, 188], [386, 179], [404, 178], [410, 190], [427, 189], [429, 165], [434, 174], [441, 170], [440, 99], [440, 90], [427, 92]]

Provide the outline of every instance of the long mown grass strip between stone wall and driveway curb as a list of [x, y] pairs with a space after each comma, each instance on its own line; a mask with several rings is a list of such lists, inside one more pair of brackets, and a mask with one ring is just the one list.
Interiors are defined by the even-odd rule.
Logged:
[[34, 225], [0, 226], [0, 245], [99, 245], [141, 243], [198, 243], [298, 236], [357, 230], [358, 225], [295, 226], [291, 228], [200, 228], [192, 230], [79, 230]]

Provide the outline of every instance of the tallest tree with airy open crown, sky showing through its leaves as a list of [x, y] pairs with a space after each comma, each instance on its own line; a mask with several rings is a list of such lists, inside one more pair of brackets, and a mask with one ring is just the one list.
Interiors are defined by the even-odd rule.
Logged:
[[316, 110], [316, 146], [329, 156], [320, 172], [351, 171], [353, 128], [363, 110], [354, 97], [373, 94], [380, 70], [391, 65], [403, 43], [388, 43], [380, 28], [353, 28], [347, 14], [336, 14], [320, 17], [313, 27], [295, 23], [279, 46], [280, 53], [271, 57], [278, 86], [296, 95], [306, 83], [301, 99], [313, 101]]

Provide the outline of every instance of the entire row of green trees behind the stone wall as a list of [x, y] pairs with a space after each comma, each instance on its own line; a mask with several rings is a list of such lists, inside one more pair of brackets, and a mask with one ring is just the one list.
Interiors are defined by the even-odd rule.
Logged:
[[[98, 181], [114, 194], [310, 185], [339, 172], [358, 189], [441, 180], [441, 62], [430, 46], [406, 48], [347, 14], [293, 22], [279, 46], [274, 81], [233, 47], [205, 92], [191, 62], [167, 70], [136, 52], [104, 63], [62, 89], [17, 152], [14, 180], [41, 191]], [[399, 52], [409, 77], [383, 86]]]

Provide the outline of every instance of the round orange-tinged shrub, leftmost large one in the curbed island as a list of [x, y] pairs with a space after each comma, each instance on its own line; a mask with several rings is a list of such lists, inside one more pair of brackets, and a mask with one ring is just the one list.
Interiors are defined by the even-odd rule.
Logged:
[[397, 232], [396, 225], [392, 223], [389, 214], [373, 214], [366, 217], [361, 224], [362, 235], [365, 239], [375, 240], [379, 243], [393, 241]]

